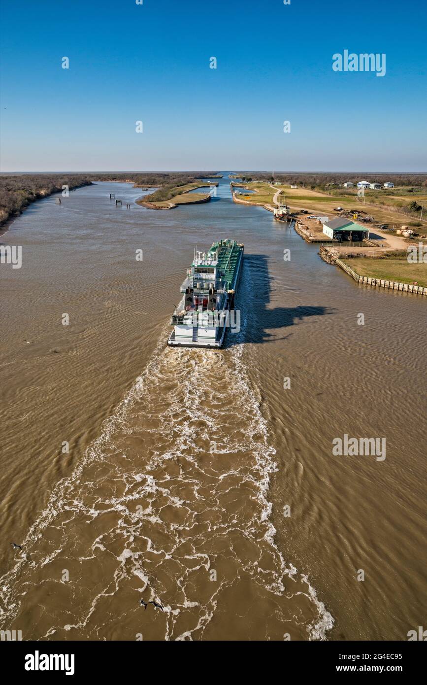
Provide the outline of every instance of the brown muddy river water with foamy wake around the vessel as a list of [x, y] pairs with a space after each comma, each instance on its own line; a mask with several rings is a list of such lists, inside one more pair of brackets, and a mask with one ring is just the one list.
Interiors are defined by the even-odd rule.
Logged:
[[[23, 260], [0, 267], [1, 629], [406, 640], [426, 619], [426, 301], [357, 286], [227, 177], [164, 212], [111, 191], [141, 194], [44, 199], [0, 239]], [[166, 347], [194, 246], [226, 237], [242, 329]], [[344, 434], [386, 458], [333, 456]]]

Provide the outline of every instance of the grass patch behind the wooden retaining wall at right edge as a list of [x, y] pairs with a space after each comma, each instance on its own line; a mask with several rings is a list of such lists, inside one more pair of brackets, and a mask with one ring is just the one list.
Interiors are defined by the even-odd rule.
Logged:
[[353, 258], [342, 260], [359, 276], [427, 287], [427, 264], [410, 264], [406, 256], [387, 258]]

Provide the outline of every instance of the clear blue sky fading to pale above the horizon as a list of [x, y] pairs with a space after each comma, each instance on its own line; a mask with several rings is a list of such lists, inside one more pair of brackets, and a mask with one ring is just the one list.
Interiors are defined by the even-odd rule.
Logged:
[[427, 171], [424, 0], [1, 3], [1, 171]]

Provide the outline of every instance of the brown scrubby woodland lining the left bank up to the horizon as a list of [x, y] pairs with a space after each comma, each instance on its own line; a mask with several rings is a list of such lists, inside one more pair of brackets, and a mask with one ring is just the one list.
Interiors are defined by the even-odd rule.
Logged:
[[[206, 172], [212, 173], [212, 172]], [[205, 177], [202, 172], [171, 173], [66, 173], [66, 174], [10, 174], [0, 175], [0, 225], [23, 210], [35, 200], [62, 192], [62, 186], [69, 190], [88, 186], [94, 181], [129, 181], [141, 188], [160, 188], [161, 196], [168, 199], [170, 188], [191, 183]]]

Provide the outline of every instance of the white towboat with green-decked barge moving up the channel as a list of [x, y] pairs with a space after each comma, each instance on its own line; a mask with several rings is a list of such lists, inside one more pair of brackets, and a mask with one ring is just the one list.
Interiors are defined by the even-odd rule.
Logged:
[[242, 269], [244, 246], [235, 240], [214, 242], [208, 252], [194, 252], [183, 297], [170, 319], [174, 326], [168, 345], [222, 347], [230, 325], [235, 292]]

